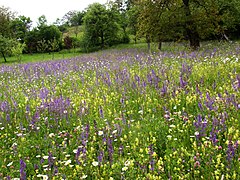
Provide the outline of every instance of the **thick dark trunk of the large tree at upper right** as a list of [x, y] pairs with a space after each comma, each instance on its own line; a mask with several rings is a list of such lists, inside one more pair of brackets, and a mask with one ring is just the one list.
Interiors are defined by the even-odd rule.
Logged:
[[190, 47], [193, 50], [197, 50], [200, 47], [200, 37], [199, 33], [197, 32], [197, 27], [193, 22], [193, 19], [191, 17], [191, 11], [189, 7], [189, 0], [183, 0], [184, 4], [184, 10], [185, 10], [185, 15], [186, 15], [186, 32], [188, 39], [190, 41]]

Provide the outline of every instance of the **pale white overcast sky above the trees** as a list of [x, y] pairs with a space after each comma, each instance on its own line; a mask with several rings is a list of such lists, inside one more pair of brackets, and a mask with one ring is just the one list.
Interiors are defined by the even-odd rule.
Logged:
[[46, 16], [48, 23], [53, 23], [67, 12], [82, 11], [94, 2], [105, 4], [107, 0], [0, 0], [0, 6], [10, 8], [17, 15], [30, 17], [35, 26], [42, 15]]

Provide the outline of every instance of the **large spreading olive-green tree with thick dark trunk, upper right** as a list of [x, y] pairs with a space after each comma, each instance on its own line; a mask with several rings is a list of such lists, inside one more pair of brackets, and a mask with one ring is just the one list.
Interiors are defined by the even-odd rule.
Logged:
[[139, 11], [138, 32], [148, 42], [149, 38], [160, 42], [183, 37], [196, 50], [201, 40], [211, 36], [227, 39], [226, 32], [240, 24], [237, 0], [135, 0], [134, 4]]

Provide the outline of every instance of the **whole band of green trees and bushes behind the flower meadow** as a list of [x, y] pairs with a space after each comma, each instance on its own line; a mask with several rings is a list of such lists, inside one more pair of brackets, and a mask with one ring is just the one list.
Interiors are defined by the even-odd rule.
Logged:
[[[130, 39], [136, 43], [139, 38], [149, 48], [151, 42], [158, 42], [161, 49], [164, 41], [189, 41], [196, 50], [203, 40], [240, 37], [240, 1], [114, 0], [70, 11], [51, 25], [43, 15], [37, 27], [31, 26], [30, 18], [15, 17], [10, 9], [0, 7], [0, 52], [5, 61], [6, 56], [20, 57], [22, 52], [51, 53], [74, 47], [89, 52]], [[63, 36], [69, 27], [74, 37]]]

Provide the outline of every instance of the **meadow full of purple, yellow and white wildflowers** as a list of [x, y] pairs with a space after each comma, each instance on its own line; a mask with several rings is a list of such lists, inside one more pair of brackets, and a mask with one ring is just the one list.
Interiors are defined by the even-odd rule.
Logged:
[[240, 47], [0, 66], [0, 179], [240, 179]]

